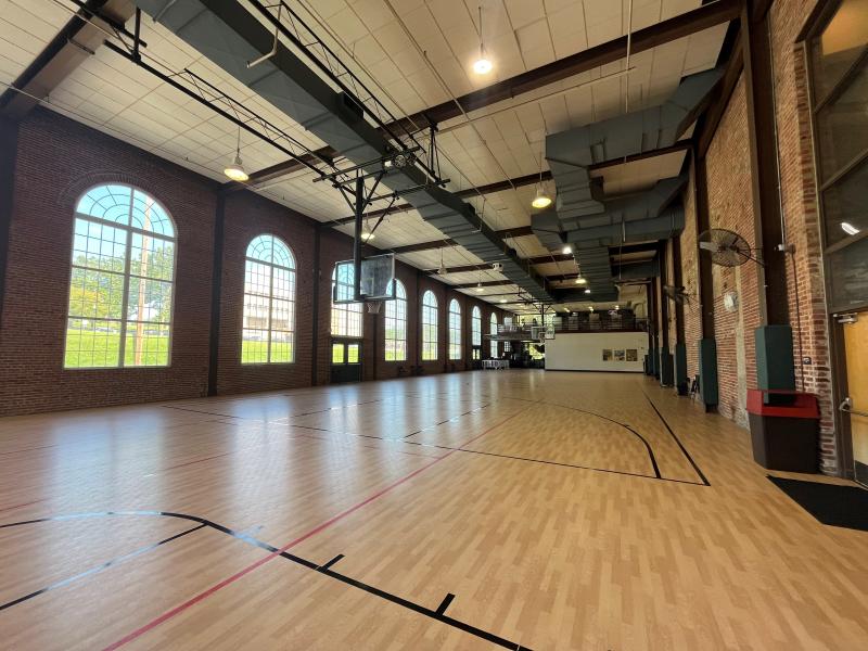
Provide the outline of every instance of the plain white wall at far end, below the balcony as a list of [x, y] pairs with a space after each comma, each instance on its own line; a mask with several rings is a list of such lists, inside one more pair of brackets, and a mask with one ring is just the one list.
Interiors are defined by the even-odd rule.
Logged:
[[[612, 359], [603, 361], [603, 349]], [[615, 361], [615, 350], [636, 349], [636, 361]], [[546, 369], [552, 371], [635, 371], [642, 372], [648, 353], [644, 332], [577, 332], [560, 334], [546, 342]]]

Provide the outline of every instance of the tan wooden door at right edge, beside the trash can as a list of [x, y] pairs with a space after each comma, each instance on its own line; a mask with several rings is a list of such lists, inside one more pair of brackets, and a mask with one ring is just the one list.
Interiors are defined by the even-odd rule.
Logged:
[[847, 315], [843, 324], [847, 368], [847, 395], [839, 405], [850, 419], [853, 439], [853, 472], [868, 485], [868, 312]]

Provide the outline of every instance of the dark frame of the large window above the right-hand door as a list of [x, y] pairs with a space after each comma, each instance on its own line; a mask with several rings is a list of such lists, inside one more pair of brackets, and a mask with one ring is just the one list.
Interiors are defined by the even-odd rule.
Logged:
[[[832, 212], [829, 205], [829, 196], [833, 191], [840, 190], [851, 178], [851, 175], [868, 169], [868, 138], [857, 146], [855, 155], [846, 156], [843, 162], [834, 162], [837, 163], [834, 168], [829, 169], [830, 165], [828, 161], [824, 159], [824, 152], [828, 152], [832, 144], [830, 135], [833, 133], [835, 127], [830, 125], [827, 129], [822, 129], [820, 126], [820, 120], [825, 113], [828, 113], [834, 106], [835, 101], [847, 90], [854, 88], [860, 75], [868, 73], [868, 39], [866, 39], [866, 42], [861, 43], [860, 50], [855, 53], [852, 61], [847, 62], [839, 72], [834, 82], [825, 88], [822, 92], [819, 90], [818, 78], [820, 71], [817, 69], [817, 40], [847, 1], [833, 0], [825, 3], [818, 12], [812, 15], [809, 27], [800, 35], [801, 42], [804, 46], [803, 55], [808, 81], [817, 209], [822, 246], [826, 301], [830, 314], [868, 308], [868, 296], [857, 297], [855, 303], [848, 302], [844, 304], [841, 302], [834, 283], [841, 282], [843, 275], [832, 268], [833, 256], [841, 256], [839, 259], [842, 259], [847, 253], [852, 254], [857, 251], [854, 248], [855, 246], [865, 246], [866, 238], [868, 238], [868, 228], [861, 228], [860, 232], [854, 234], [834, 238], [833, 241], [829, 237], [829, 228], [832, 226], [829, 221]], [[850, 137], [852, 137], [852, 131], [848, 130], [847, 138]], [[825, 150], [824, 148], [827, 149]]]

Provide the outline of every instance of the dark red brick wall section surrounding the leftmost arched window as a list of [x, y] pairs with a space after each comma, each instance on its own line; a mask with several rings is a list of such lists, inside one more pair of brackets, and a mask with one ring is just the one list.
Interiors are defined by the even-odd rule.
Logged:
[[[73, 212], [102, 182], [158, 199], [177, 230], [171, 366], [64, 370]], [[204, 395], [216, 183], [48, 111], [21, 125], [0, 330], [0, 414]]]

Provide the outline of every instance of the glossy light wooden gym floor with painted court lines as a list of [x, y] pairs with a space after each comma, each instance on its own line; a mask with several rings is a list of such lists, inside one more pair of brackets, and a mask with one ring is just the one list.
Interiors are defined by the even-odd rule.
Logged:
[[864, 648], [868, 534], [766, 475], [626, 374], [4, 419], [0, 647]]

